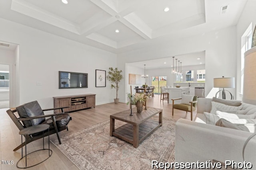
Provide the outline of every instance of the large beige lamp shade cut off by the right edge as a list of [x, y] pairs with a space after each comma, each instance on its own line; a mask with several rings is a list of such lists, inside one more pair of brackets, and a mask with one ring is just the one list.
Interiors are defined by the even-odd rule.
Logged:
[[244, 53], [244, 89], [242, 101], [256, 105], [256, 46]]

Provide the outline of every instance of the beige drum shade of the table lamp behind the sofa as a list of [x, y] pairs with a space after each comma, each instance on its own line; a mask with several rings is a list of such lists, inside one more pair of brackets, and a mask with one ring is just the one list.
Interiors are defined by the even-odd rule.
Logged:
[[234, 77], [222, 77], [213, 79], [213, 87], [216, 88], [235, 88]]

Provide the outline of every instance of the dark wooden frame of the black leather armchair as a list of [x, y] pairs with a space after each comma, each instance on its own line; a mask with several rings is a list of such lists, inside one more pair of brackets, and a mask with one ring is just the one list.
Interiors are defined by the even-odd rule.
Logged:
[[[56, 125], [56, 119], [55, 119], [55, 116], [58, 116], [58, 115], [63, 115], [63, 114], [68, 114], [68, 113], [65, 113], [63, 111], [64, 108], [67, 108], [67, 107], [59, 107], [59, 108], [52, 108], [52, 109], [42, 109], [42, 111], [49, 111], [49, 110], [55, 110], [55, 109], [61, 109], [62, 113], [53, 113], [53, 114], [48, 114], [48, 115], [40, 115], [40, 116], [34, 116], [34, 117], [26, 117], [26, 118], [18, 118], [16, 117], [16, 115], [14, 114], [15, 112], [17, 112], [16, 109], [14, 110], [11, 110], [11, 109], [8, 109], [6, 112], [8, 113], [8, 115], [10, 116], [10, 118], [12, 119], [12, 121], [15, 123], [15, 125], [18, 127], [18, 129], [21, 131], [22, 129], [25, 129], [25, 127], [22, 125], [21, 121], [24, 121], [24, 120], [32, 120], [32, 119], [38, 119], [38, 118], [44, 118], [44, 117], [52, 117], [52, 123], [54, 125], [54, 129], [50, 129], [49, 131], [49, 135], [52, 135], [54, 133], [56, 133], [57, 137], [58, 137], [58, 141], [59, 143], [61, 144], [61, 140], [60, 140], [60, 136], [58, 134], [59, 131], [63, 131], [65, 129], [67, 129], [68, 131], [68, 123], [70, 120], [72, 120], [72, 118], [70, 117], [70, 120], [68, 121], [68, 123], [66, 124], [66, 126], [64, 127], [57, 127]], [[36, 136], [31, 136], [31, 135], [26, 135], [26, 143], [30, 143], [32, 141], [36, 141], [37, 139], [40, 139], [42, 137], [46, 137], [48, 136], [48, 133], [44, 133], [42, 135], [36, 135]], [[18, 147], [16, 147], [13, 151], [16, 151], [20, 148], [22, 148], [23, 146], [25, 146], [25, 142], [20, 144]]]

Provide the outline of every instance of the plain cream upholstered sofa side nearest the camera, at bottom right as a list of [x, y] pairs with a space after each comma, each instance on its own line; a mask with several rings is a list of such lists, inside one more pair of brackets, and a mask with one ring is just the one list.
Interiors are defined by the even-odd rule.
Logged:
[[[179, 119], [176, 122], [175, 162], [206, 162], [213, 159], [225, 162], [244, 162], [242, 150], [252, 133]], [[256, 140], [245, 149], [245, 160], [256, 167]]]

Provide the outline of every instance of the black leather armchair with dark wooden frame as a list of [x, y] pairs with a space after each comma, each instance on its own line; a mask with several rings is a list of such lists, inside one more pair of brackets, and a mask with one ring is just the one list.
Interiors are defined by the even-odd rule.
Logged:
[[[72, 119], [68, 113], [64, 113], [63, 109], [66, 107], [60, 108], [52, 108], [52, 109], [41, 109], [40, 105], [37, 101], [29, 102], [23, 104], [21, 106], [16, 107], [15, 110], [7, 110], [6, 112], [11, 117], [12, 121], [14, 121], [15, 125], [19, 130], [25, 129], [26, 127], [39, 125], [39, 124], [48, 124], [50, 125], [50, 135], [56, 133], [59, 143], [61, 144], [60, 136], [58, 132], [67, 129], [68, 131], [68, 123]], [[62, 113], [53, 113], [44, 115], [44, 111], [61, 109]], [[18, 112], [19, 118], [14, 114]], [[46, 117], [50, 117], [46, 119]], [[34, 135], [26, 135], [26, 143], [30, 143], [37, 139], [40, 139], [48, 134], [34, 134]], [[13, 151], [16, 151], [23, 147], [25, 142], [16, 147]]]

